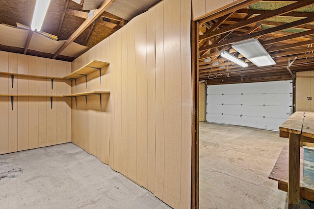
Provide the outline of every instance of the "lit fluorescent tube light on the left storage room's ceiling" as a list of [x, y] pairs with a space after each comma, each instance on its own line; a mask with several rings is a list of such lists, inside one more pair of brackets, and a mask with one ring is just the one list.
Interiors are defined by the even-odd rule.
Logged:
[[33, 19], [31, 21], [31, 29], [40, 31], [43, 25], [50, 0], [36, 0]]

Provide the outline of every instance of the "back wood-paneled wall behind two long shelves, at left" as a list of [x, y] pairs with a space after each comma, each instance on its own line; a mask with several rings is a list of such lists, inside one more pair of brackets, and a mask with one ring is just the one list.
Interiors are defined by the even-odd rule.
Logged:
[[[26, 75], [63, 77], [71, 63], [0, 51], [0, 71]], [[63, 95], [71, 82], [0, 74], [0, 94]], [[71, 99], [0, 96], [0, 154], [71, 141]]]

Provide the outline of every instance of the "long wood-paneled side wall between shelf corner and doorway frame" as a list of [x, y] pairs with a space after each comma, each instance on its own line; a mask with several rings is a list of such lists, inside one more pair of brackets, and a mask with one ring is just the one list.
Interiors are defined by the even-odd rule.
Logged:
[[190, 0], [164, 0], [72, 63], [110, 63], [72, 83], [72, 141], [174, 208], [190, 208]]

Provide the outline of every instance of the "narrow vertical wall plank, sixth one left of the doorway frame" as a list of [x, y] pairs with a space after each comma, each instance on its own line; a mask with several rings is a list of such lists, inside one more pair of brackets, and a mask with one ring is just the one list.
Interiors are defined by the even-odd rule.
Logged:
[[[134, 19], [127, 25], [128, 33], [128, 178], [136, 181], [136, 64]], [[111, 72], [110, 72], [111, 73]]]

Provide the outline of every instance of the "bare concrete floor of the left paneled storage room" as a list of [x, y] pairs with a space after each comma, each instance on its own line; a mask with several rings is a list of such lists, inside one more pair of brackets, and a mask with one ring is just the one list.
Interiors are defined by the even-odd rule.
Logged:
[[73, 143], [0, 155], [0, 209], [166, 209]]

